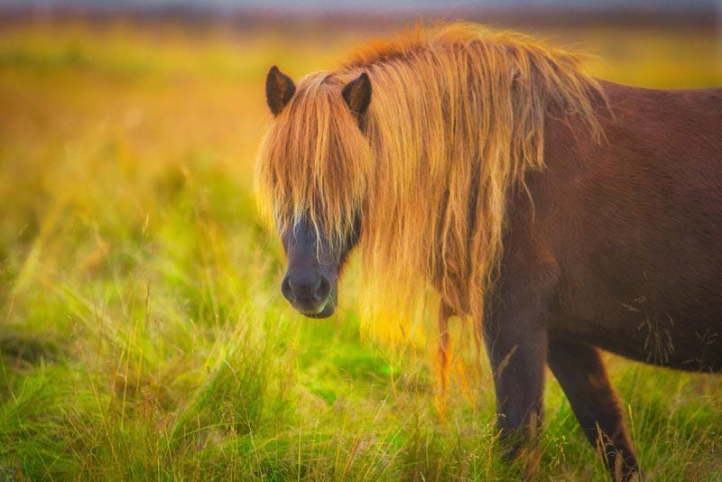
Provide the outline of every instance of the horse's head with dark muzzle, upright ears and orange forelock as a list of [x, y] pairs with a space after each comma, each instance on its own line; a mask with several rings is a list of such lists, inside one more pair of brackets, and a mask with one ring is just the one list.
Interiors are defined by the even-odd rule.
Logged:
[[258, 181], [288, 257], [281, 292], [311, 318], [336, 311], [338, 277], [360, 236], [366, 184], [360, 158], [368, 155], [362, 130], [370, 99], [365, 73], [346, 84], [310, 76], [298, 91], [275, 67], [266, 79], [276, 122]]

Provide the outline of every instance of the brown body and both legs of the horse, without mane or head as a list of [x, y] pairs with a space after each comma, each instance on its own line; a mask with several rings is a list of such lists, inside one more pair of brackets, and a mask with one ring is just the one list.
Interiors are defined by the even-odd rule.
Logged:
[[514, 353], [495, 373], [502, 427], [541, 409], [546, 361], [628, 477], [636, 462], [596, 348], [722, 371], [722, 89], [602, 85], [614, 117], [598, 105], [601, 144], [549, 118], [547, 167], [510, 203], [485, 340], [493, 366]]

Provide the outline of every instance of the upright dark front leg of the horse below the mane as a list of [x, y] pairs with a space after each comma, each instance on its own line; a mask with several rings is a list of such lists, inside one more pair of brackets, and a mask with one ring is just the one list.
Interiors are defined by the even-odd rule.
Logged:
[[546, 312], [538, 293], [517, 290], [495, 303], [484, 324], [498, 424], [510, 458], [523, 449], [531, 450], [532, 459], [536, 457], [547, 356]]

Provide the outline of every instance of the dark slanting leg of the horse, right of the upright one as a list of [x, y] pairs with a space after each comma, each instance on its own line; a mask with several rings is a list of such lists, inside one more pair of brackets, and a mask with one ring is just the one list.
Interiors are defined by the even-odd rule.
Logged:
[[550, 336], [547, 364], [567, 394], [588, 440], [603, 450], [612, 475], [617, 480], [631, 478], [637, 460], [597, 349]]

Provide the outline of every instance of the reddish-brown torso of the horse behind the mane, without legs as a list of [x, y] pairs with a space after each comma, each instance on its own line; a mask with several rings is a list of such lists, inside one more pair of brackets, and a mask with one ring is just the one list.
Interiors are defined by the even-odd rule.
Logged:
[[603, 86], [605, 138], [551, 121], [532, 178], [536, 236], [560, 273], [551, 329], [722, 370], [722, 89]]

